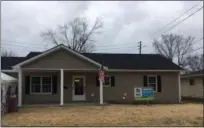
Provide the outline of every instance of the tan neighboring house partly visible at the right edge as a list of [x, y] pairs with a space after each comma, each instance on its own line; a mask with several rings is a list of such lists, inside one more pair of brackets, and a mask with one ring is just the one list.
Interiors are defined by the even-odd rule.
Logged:
[[203, 98], [203, 70], [181, 75], [181, 95], [186, 98]]

